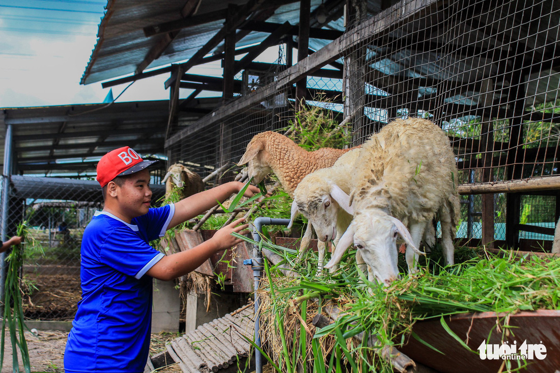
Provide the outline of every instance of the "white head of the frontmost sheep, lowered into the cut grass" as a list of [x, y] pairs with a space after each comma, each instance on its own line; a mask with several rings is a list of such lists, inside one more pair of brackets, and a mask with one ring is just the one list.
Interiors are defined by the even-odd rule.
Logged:
[[407, 227], [397, 218], [379, 210], [359, 213], [354, 216], [351, 225], [340, 238], [325, 268], [332, 268], [339, 263], [342, 255], [353, 243], [360, 251], [363, 260], [370, 266], [377, 281], [384, 286], [389, 286], [399, 277], [396, 247], [396, 239], [399, 235], [415, 253], [424, 254], [414, 246]]

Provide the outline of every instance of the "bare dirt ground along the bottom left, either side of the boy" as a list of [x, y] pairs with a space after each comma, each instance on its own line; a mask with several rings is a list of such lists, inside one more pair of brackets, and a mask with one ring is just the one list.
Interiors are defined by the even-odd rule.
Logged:
[[[10, 332], [6, 330], [6, 345], [4, 347], [4, 364], [2, 372], [12, 372], [12, 346]], [[150, 356], [164, 351], [165, 344], [176, 338], [176, 334], [152, 334], [150, 343]], [[39, 330], [38, 335], [25, 332], [25, 340], [29, 351], [31, 372], [64, 372], [64, 348], [68, 332], [58, 330]], [[23, 371], [21, 355], [18, 352], [20, 371]], [[159, 373], [182, 373], [177, 365], [158, 370]]]

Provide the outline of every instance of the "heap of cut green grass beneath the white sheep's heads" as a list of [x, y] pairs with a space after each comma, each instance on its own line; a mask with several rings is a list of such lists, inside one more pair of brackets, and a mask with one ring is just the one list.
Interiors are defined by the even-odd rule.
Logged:
[[[458, 248], [456, 258], [462, 262], [444, 268], [434, 250], [417, 274], [403, 273], [402, 279], [383, 288], [359, 271], [355, 251], [345, 255], [333, 275], [317, 271], [315, 253], [307, 255], [306, 263], [297, 263], [294, 250], [273, 245], [265, 237], [259, 245], [284, 257], [277, 265], [267, 263], [267, 278], [259, 292], [263, 349], [277, 371], [307, 366], [325, 373], [392, 372], [388, 360], [381, 357], [385, 346], [398, 348], [411, 336], [419, 338], [412, 335], [418, 321], [440, 320], [447, 333], [467, 348], [447, 326], [446, 316], [560, 309], [558, 258], [529, 254], [516, 258], [510, 251], [498, 256], [483, 249]], [[294, 266], [297, 278], [278, 271], [278, 265], [286, 263]], [[311, 320], [321, 311], [325, 314], [328, 305], [335, 305], [340, 317], [316, 328]], [[499, 327], [489, 333], [502, 333], [503, 338], [508, 333], [507, 317], [497, 323]], [[368, 336], [375, 336], [370, 344]], [[509, 362], [504, 371], [519, 368]]]

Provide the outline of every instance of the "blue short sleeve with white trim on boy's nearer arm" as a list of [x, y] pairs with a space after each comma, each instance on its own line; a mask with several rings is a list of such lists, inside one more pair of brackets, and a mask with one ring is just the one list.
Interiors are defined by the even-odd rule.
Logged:
[[116, 271], [140, 278], [164, 254], [153, 249], [128, 227], [122, 227], [106, 238], [101, 246], [100, 257], [101, 262]]

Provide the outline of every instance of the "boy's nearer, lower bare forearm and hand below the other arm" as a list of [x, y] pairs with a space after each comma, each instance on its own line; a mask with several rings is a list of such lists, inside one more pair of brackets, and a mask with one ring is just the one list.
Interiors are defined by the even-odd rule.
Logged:
[[152, 268], [148, 269], [146, 274], [162, 281], [170, 281], [194, 271], [217, 251], [231, 248], [231, 246], [235, 246], [242, 241], [231, 235], [231, 232], [239, 232], [242, 235], [247, 233], [247, 231], [243, 231], [248, 227], [247, 224], [236, 227], [242, 221], [244, 221], [244, 218], [226, 225], [218, 230], [211, 239], [190, 250], [161, 258]]

